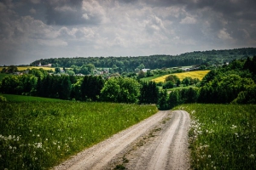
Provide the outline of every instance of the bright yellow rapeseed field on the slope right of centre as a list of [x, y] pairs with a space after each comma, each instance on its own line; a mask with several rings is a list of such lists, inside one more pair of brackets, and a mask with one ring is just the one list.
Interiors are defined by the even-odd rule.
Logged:
[[[188, 71], [188, 72], [180, 72], [180, 73], [174, 73], [172, 75], [176, 75], [181, 81], [183, 80], [184, 77], [192, 77], [192, 78], [198, 78], [199, 80], [201, 80], [203, 77], [205, 77], [207, 75], [209, 71]], [[165, 75], [162, 77], [157, 77], [154, 78], [152, 81], [154, 82], [165, 82], [166, 77], [170, 76], [169, 75]]]

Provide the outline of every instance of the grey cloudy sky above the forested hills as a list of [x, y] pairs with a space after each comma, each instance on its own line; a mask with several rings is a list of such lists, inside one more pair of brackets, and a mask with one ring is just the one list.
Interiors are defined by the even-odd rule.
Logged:
[[255, 0], [0, 0], [0, 65], [256, 47]]

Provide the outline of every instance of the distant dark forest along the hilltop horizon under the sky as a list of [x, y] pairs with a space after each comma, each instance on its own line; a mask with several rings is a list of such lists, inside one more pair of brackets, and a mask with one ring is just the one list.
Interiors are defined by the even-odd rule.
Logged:
[[256, 48], [236, 48], [211, 51], [194, 51], [179, 55], [150, 55], [138, 57], [75, 57], [38, 59], [31, 65], [48, 65], [53, 67], [72, 67], [95, 65], [97, 68], [114, 68], [119, 73], [132, 72], [139, 65], [146, 69], [161, 69], [187, 65], [222, 65], [233, 59], [246, 59], [256, 54]]

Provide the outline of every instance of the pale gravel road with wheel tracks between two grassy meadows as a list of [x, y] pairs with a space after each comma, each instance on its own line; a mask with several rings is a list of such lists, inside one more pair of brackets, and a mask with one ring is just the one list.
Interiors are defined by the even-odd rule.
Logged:
[[54, 169], [189, 169], [186, 111], [159, 111]]

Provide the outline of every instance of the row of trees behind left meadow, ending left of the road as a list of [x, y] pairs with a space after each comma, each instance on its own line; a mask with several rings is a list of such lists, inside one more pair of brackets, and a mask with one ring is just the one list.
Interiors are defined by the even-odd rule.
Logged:
[[[154, 104], [159, 89], [155, 82], [138, 82], [130, 77], [54, 76], [30, 71], [20, 76], [3, 77], [3, 94], [23, 94], [55, 99]], [[143, 94], [143, 95], [141, 95]]]

